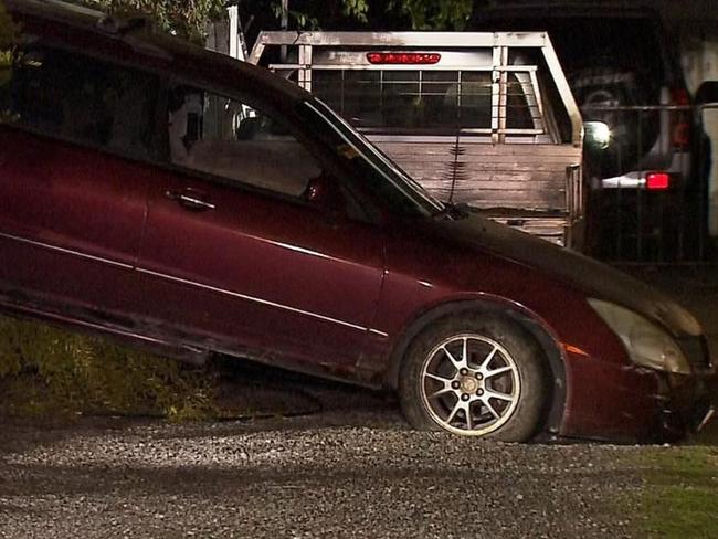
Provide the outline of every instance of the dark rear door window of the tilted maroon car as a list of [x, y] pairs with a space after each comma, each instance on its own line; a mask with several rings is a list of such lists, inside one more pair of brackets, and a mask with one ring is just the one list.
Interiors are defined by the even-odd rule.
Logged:
[[157, 80], [32, 43], [0, 78], [0, 119], [136, 157], [151, 154]]

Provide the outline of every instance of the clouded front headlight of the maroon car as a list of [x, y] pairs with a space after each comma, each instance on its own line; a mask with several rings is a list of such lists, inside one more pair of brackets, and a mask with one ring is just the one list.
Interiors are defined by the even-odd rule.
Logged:
[[686, 356], [666, 331], [619, 305], [592, 298], [588, 302], [621, 338], [634, 363], [666, 372], [690, 374]]

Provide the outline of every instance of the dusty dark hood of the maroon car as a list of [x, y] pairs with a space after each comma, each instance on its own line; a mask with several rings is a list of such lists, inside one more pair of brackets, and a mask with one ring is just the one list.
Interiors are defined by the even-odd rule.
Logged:
[[615, 303], [659, 324], [675, 336], [698, 336], [700, 324], [655, 288], [601, 262], [496, 223], [476, 213], [445, 220], [441, 228], [454, 239], [543, 273], [587, 297]]

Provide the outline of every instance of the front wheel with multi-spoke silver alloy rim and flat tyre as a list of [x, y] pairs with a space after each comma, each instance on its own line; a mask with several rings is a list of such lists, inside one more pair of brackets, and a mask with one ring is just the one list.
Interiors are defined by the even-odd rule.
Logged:
[[526, 442], [549, 403], [547, 366], [514, 321], [488, 314], [444, 318], [410, 344], [399, 399], [415, 429]]

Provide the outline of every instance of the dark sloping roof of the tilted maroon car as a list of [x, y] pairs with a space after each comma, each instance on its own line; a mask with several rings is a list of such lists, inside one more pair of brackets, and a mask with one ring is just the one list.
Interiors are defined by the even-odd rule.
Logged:
[[154, 31], [149, 21], [140, 18], [114, 18], [57, 0], [6, 0], [6, 4], [29, 32], [68, 46], [162, 70], [184, 82], [202, 82], [228, 91], [251, 89], [283, 108], [309, 97], [306, 91], [268, 70]]

